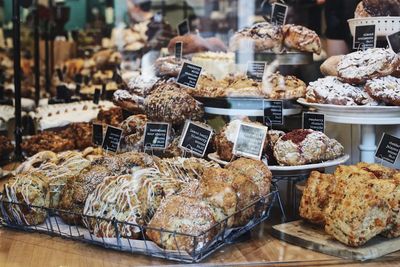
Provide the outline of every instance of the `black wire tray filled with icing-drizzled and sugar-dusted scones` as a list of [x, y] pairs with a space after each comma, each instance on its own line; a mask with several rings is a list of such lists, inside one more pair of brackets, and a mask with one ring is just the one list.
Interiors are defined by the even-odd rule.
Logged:
[[75, 151], [43, 151], [4, 185], [0, 223], [199, 262], [266, 220], [278, 192], [258, 161], [238, 160], [229, 169], [211, 166], [199, 158], [139, 152], [90, 159]]

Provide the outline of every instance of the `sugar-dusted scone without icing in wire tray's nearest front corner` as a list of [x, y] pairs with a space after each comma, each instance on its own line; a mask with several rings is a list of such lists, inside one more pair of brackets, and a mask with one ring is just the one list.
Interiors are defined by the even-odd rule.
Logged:
[[[148, 224], [146, 234], [162, 248], [192, 253], [193, 249], [200, 250], [214, 238], [217, 228], [211, 227], [215, 223], [212, 210], [204, 201], [171, 196], [162, 202]], [[158, 229], [169, 232], [161, 232]]]

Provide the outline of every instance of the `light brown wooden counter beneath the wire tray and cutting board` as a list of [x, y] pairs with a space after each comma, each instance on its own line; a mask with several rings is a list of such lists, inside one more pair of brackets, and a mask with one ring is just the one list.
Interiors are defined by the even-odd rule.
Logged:
[[[252, 266], [400, 266], [400, 252], [367, 263], [350, 262], [279, 241], [268, 234], [268, 224], [251, 233], [251, 239], [227, 245], [202, 265]], [[106, 250], [94, 245], [0, 228], [0, 266], [122, 267], [176, 265], [176, 262]]]

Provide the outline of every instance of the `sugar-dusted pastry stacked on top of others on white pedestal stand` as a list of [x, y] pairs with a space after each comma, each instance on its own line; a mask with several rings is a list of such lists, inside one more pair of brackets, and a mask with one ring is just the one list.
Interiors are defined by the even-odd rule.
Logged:
[[400, 64], [391, 49], [370, 48], [345, 55], [339, 62], [339, 78], [351, 84], [363, 84], [374, 78], [390, 75]]

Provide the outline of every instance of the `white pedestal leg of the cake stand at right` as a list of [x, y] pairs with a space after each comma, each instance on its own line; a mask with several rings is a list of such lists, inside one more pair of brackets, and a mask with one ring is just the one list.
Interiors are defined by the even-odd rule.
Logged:
[[375, 126], [361, 125], [361, 143], [360, 143], [361, 161], [367, 163], [375, 162]]

